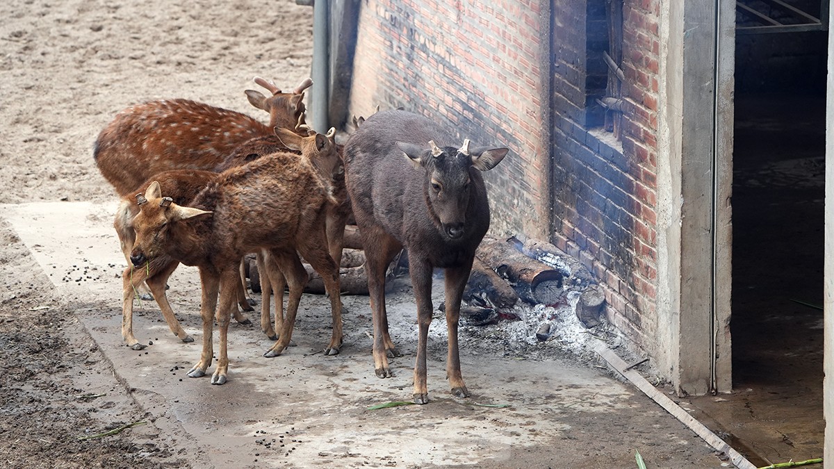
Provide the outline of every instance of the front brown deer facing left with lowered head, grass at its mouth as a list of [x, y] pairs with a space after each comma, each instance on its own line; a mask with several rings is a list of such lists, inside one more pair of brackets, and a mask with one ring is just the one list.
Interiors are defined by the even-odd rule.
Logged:
[[286, 152], [269, 154], [224, 171], [188, 207], [173, 203], [155, 182], [137, 196], [140, 211], [133, 219], [136, 231], [131, 253], [133, 265], [142, 267], [170, 256], [183, 264], [197, 265], [200, 270], [203, 351], [188, 376], [204, 376], [212, 364], [216, 315], [220, 345], [211, 382], [217, 385], [226, 382], [229, 309], [234, 303], [234, 285], [239, 282], [238, 264], [244, 254], [259, 250], [268, 250], [272, 259], [267, 264], [267, 274], [278, 275], [272, 270], [279, 268], [289, 283], [283, 330], [264, 356], [278, 356], [291, 339], [307, 281], [298, 253], [322, 276], [330, 297], [333, 335], [325, 355], [339, 352], [342, 342], [339, 268], [329, 255], [324, 234], [327, 205], [334, 200], [330, 195], [332, 188], [317, 169], [334, 168], [339, 157], [332, 139], [322, 134], [305, 137], [302, 147], [301, 158]]

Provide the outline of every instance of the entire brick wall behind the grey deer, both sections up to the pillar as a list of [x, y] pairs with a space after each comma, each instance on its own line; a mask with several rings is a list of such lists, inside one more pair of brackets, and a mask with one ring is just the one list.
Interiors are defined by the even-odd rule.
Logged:
[[592, 129], [605, 0], [367, 0], [350, 99], [355, 115], [402, 106], [509, 146], [487, 176], [494, 232], [580, 260], [640, 345], [656, 330], [659, 2], [624, 0], [621, 143]]

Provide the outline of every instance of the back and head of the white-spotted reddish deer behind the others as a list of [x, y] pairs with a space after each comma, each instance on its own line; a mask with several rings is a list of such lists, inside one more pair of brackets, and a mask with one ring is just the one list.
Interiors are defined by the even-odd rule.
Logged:
[[[119, 195], [129, 194], [153, 174], [171, 169], [213, 171], [241, 144], [274, 135], [274, 128], [304, 124], [305, 79], [282, 93], [263, 78], [255, 83], [272, 96], [247, 90], [249, 103], [269, 113], [263, 124], [244, 113], [188, 99], [163, 99], [124, 109], [105, 127], [93, 146], [98, 170]], [[305, 133], [306, 134], [306, 133]]]

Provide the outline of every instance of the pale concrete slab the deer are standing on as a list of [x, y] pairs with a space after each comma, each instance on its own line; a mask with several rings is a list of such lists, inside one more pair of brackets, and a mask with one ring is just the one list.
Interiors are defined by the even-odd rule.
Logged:
[[652, 466], [726, 466], [654, 402], [570, 361], [524, 360], [505, 356], [493, 344], [470, 345], [461, 350], [461, 361], [472, 397], [452, 398], [442, 320], [430, 337], [432, 402], [369, 411], [375, 404], [410, 400], [416, 330], [407, 285], [389, 296], [391, 333], [405, 352], [392, 361], [391, 379], [374, 376], [367, 297], [344, 297], [349, 313], [342, 353], [318, 353], [329, 339], [329, 302], [319, 295], [304, 295], [294, 333], [298, 345], [284, 355], [264, 358], [271, 342], [259, 326], [233, 321], [228, 383], [188, 378], [202, 335], [197, 271], [181, 266], [168, 290], [196, 341], [179, 342], [158, 307], [144, 301], [137, 305], [134, 331], [151, 345], [140, 351], [124, 346], [124, 260], [111, 227], [114, 209], [82, 202], [5, 204], [0, 217], [53, 284], [78, 299], [76, 315], [148, 420], [178, 445], [200, 450], [195, 464], [607, 468], [634, 466], [639, 450]]

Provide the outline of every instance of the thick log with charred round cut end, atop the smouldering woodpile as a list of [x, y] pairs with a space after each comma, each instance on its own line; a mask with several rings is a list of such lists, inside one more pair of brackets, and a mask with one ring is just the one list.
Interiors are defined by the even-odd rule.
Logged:
[[564, 301], [565, 275], [562, 270], [534, 260], [495, 238], [484, 238], [475, 255], [507, 279], [522, 300], [533, 305], [557, 305]]

